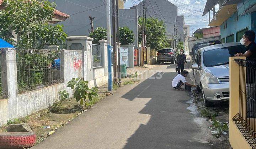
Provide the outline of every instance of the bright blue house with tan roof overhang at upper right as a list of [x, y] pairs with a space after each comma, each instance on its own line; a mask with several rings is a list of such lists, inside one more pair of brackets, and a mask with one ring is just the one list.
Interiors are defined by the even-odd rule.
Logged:
[[208, 0], [203, 16], [215, 10], [217, 4], [219, 10], [214, 11], [209, 26], [220, 26], [223, 43], [240, 42], [245, 31], [256, 31], [256, 0]]

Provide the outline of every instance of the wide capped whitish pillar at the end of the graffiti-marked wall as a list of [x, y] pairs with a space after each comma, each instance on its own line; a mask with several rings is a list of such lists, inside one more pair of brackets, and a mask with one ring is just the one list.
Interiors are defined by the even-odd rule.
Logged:
[[93, 79], [92, 71], [92, 41], [87, 36], [70, 36], [66, 38], [68, 50], [84, 50], [83, 51], [83, 76], [87, 81]]

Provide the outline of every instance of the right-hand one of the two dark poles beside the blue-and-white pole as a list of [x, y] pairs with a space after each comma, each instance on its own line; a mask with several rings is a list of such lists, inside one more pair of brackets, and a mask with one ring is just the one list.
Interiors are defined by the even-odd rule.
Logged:
[[119, 83], [119, 86], [121, 86], [121, 71], [120, 71], [120, 39], [119, 39], [118, 0], [116, 0], [116, 14], [117, 14], [118, 83]]

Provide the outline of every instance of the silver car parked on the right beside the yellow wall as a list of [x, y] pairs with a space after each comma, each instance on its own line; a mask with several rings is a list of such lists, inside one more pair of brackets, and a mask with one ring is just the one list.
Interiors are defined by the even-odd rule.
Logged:
[[192, 69], [205, 106], [229, 99], [229, 57], [245, 51], [240, 43], [211, 45], [197, 51]]

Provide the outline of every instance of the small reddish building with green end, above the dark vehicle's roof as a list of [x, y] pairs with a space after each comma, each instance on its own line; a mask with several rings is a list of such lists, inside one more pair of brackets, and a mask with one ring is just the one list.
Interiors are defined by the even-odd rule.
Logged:
[[208, 28], [199, 28], [193, 34], [194, 34], [194, 37], [197, 37], [197, 38], [219, 36], [220, 27], [214, 26], [214, 27], [208, 27]]

